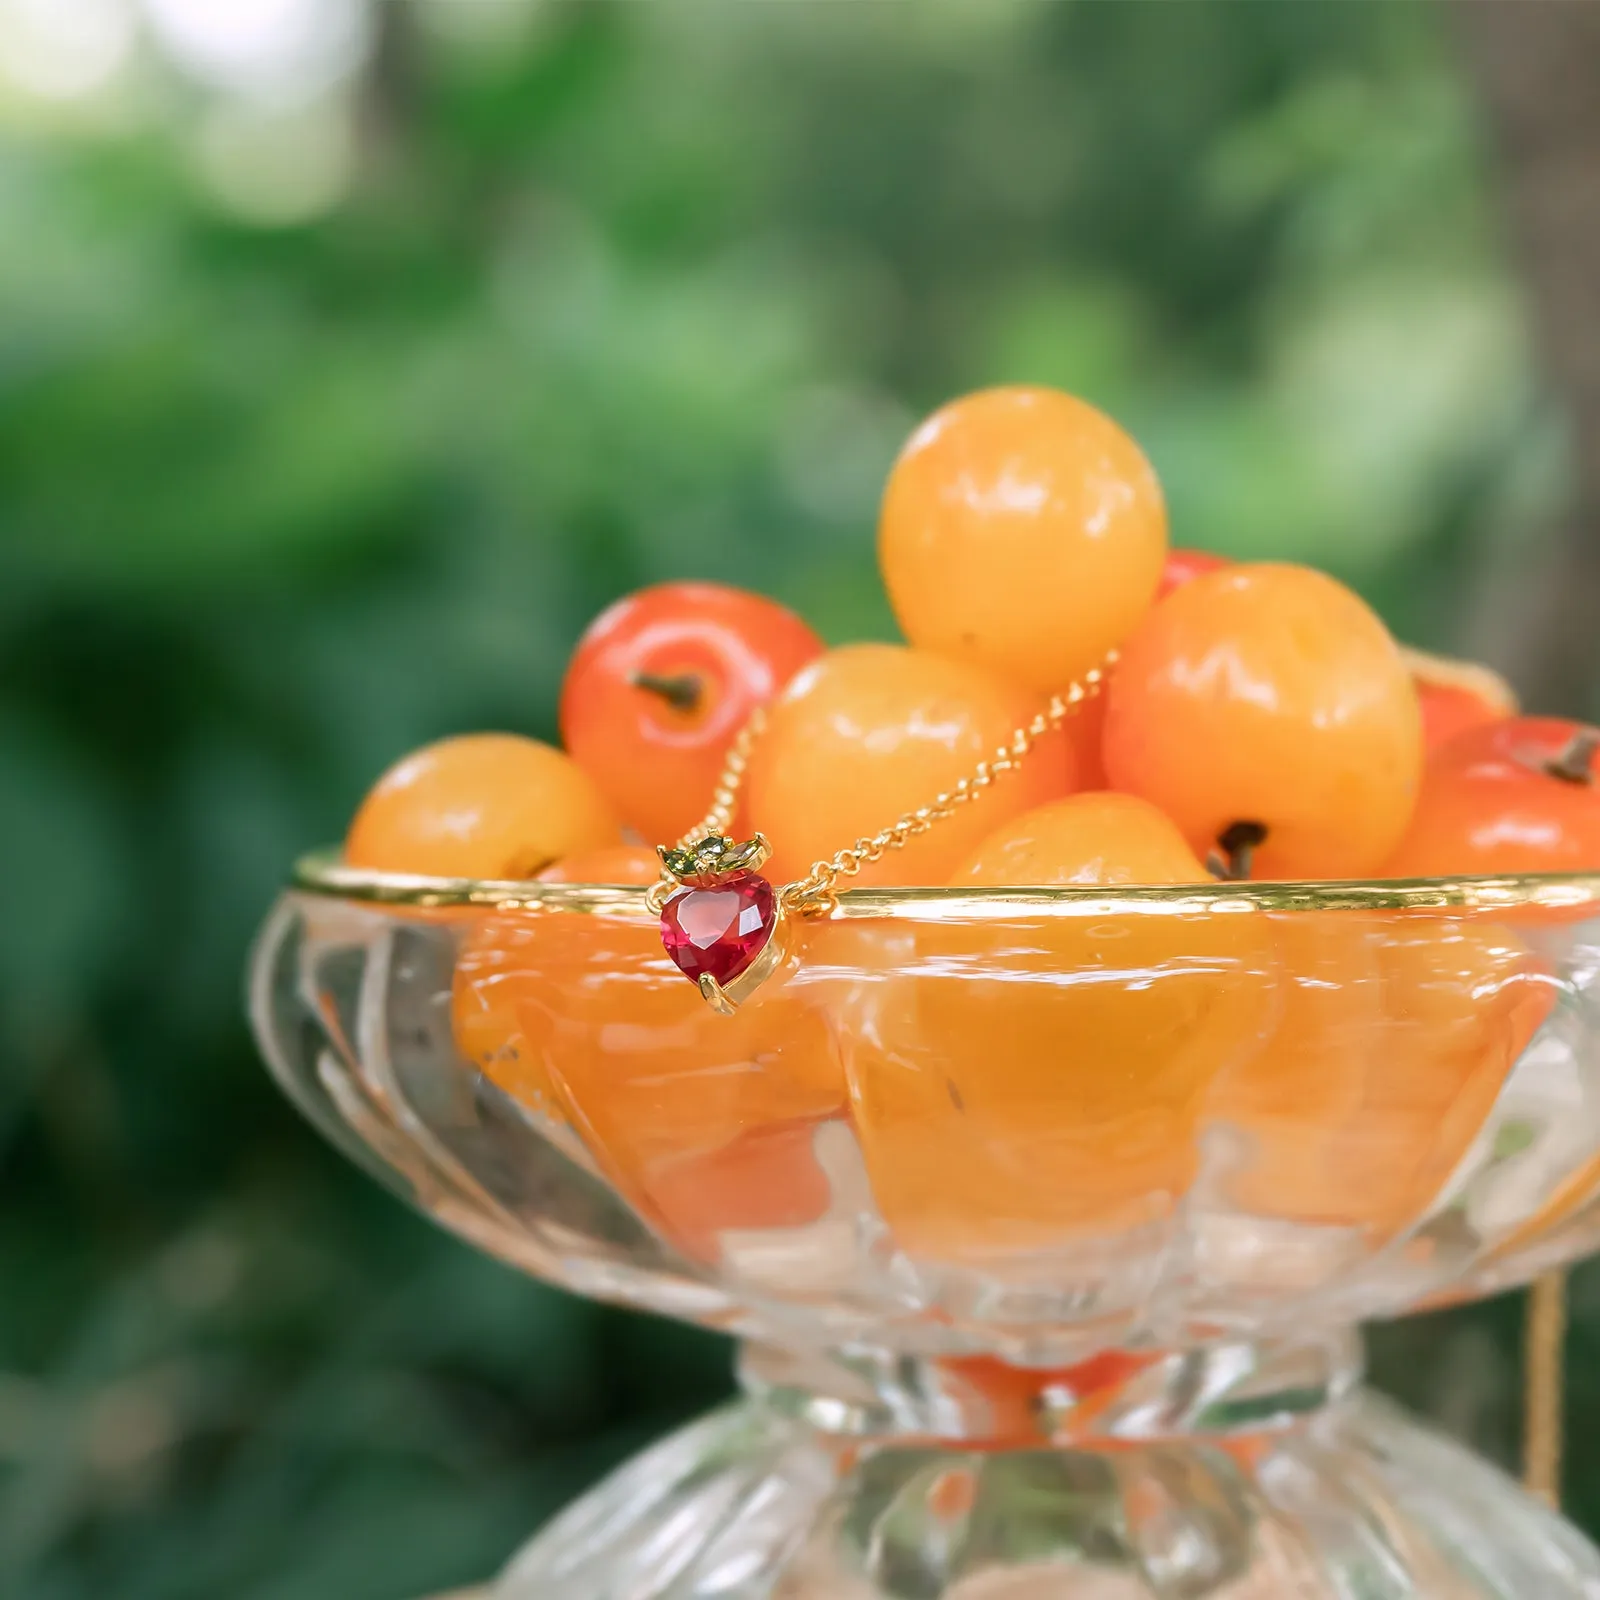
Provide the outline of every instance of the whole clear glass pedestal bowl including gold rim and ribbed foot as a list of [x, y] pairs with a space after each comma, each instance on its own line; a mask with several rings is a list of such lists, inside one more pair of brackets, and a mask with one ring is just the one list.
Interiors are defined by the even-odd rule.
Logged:
[[1350, 1330], [1594, 1248], [1597, 974], [1600, 875], [882, 890], [723, 1018], [643, 890], [314, 861], [251, 1011], [440, 1222], [744, 1341], [502, 1600], [1554, 1600]]

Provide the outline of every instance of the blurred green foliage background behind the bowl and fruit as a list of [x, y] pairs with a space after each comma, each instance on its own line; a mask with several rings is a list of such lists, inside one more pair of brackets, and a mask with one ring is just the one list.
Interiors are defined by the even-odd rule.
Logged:
[[[0, 0], [0, 1594], [402, 1600], [726, 1390], [323, 1149], [245, 950], [402, 750], [549, 736], [626, 589], [890, 634], [939, 400], [1078, 390], [1178, 542], [1592, 710], [1592, 10]], [[1378, 1378], [1512, 1461], [1518, 1317]]]

